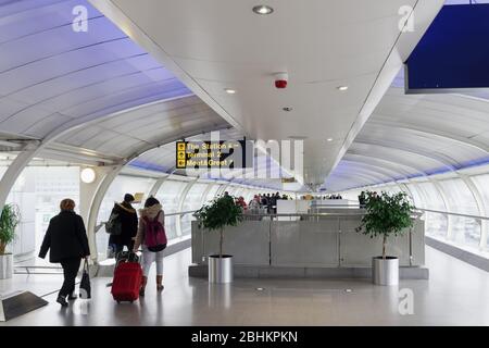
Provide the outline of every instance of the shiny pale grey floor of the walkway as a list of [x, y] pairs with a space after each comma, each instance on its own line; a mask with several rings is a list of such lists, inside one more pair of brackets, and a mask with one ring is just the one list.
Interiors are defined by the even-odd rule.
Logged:
[[[236, 279], [211, 286], [189, 278], [190, 250], [165, 259], [165, 289], [151, 277], [147, 296], [135, 303], [112, 300], [110, 278], [92, 279], [92, 299], [68, 309], [54, 302], [1, 325], [489, 325], [489, 273], [426, 248], [429, 281], [399, 287], [368, 281]], [[55, 290], [59, 275], [16, 275], [0, 291]], [[37, 289], [36, 289], [37, 288]], [[411, 289], [413, 314], [399, 311], [401, 289]], [[402, 308], [409, 308], [401, 306]]]

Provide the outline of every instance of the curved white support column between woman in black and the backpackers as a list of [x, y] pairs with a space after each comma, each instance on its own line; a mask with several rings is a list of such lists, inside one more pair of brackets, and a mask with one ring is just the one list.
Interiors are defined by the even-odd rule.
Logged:
[[100, 183], [99, 187], [97, 188], [93, 199], [90, 203], [90, 211], [88, 214], [88, 223], [87, 223], [87, 236], [88, 236], [88, 244], [90, 246], [90, 258], [93, 262], [97, 262], [98, 260], [98, 250], [97, 250], [97, 243], [96, 243], [96, 225], [97, 225], [97, 217], [99, 214], [100, 206], [102, 204], [103, 197], [106, 194], [106, 190], [111, 186], [111, 184], [114, 182], [115, 177], [121, 173], [122, 169], [124, 167], [123, 164], [117, 165], [115, 167], [112, 167], [111, 171], [109, 171], [105, 175], [105, 177]]

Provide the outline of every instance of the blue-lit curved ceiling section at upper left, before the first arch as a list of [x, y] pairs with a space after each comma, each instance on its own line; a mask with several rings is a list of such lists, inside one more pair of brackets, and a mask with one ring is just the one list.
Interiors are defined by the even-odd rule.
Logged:
[[[76, 5], [89, 10], [87, 33], [72, 28]], [[190, 95], [84, 0], [4, 2], [0, 51], [3, 133], [42, 139], [67, 122]]]

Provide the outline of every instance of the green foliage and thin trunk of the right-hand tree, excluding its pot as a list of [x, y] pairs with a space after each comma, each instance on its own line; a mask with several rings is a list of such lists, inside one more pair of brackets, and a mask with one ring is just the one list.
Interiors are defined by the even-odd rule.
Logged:
[[389, 195], [367, 191], [365, 198], [366, 213], [362, 225], [356, 232], [362, 232], [371, 238], [383, 236], [383, 259], [386, 259], [387, 238], [391, 235], [403, 235], [408, 227], [413, 226], [414, 206], [405, 192]]

